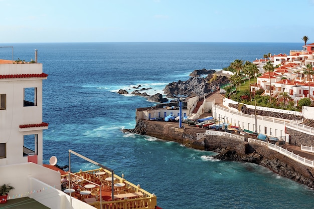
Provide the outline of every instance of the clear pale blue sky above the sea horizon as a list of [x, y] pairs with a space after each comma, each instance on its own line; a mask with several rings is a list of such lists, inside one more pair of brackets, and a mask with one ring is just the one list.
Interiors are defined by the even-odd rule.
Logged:
[[314, 0], [0, 0], [0, 8], [0, 44], [314, 42]]

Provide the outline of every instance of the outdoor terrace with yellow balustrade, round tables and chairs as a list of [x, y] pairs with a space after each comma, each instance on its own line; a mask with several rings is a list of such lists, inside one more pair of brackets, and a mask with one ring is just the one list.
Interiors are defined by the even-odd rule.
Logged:
[[103, 168], [62, 175], [61, 190], [96, 208], [153, 208], [156, 198], [125, 180], [123, 174], [112, 176]]

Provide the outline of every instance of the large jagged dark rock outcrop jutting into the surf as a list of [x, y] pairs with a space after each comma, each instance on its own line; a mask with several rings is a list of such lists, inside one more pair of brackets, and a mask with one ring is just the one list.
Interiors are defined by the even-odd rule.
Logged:
[[186, 97], [203, 96], [215, 91], [219, 85], [229, 82], [225, 76], [215, 76], [214, 79], [212, 79], [213, 75], [208, 75], [206, 78], [191, 77], [187, 81], [172, 82], [165, 87], [164, 93], [169, 98], [178, 98], [182, 95]]

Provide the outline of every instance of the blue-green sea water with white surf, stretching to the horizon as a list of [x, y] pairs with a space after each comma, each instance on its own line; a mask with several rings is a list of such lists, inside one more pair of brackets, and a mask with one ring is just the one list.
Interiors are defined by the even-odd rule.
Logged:
[[[14, 60], [43, 63], [44, 163], [52, 155], [68, 164], [72, 149], [155, 193], [164, 209], [312, 208], [314, 192], [252, 163], [215, 160], [150, 136], [122, 133], [134, 128], [135, 108], [154, 105], [119, 95], [133, 86], [162, 93], [196, 69], [219, 70], [235, 59], [301, 50], [302, 43], [32, 43], [14, 46]], [[11, 49], [0, 49], [12, 59]], [[75, 156], [72, 171], [95, 166]]]

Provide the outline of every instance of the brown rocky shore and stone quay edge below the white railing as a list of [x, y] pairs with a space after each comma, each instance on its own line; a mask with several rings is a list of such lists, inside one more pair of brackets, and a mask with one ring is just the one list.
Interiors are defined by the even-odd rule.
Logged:
[[197, 140], [197, 132], [205, 132], [201, 128], [177, 128], [175, 122], [138, 120], [134, 129], [124, 129], [123, 132], [132, 132], [154, 136], [168, 141], [176, 141], [195, 149], [203, 149], [218, 153], [214, 158], [221, 160], [251, 162], [269, 168], [280, 176], [314, 188], [314, 170], [296, 161], [268, 149], [265, 146], [247, 141], [238, 141], [234, 138], [222, 136], [208, 136]]

